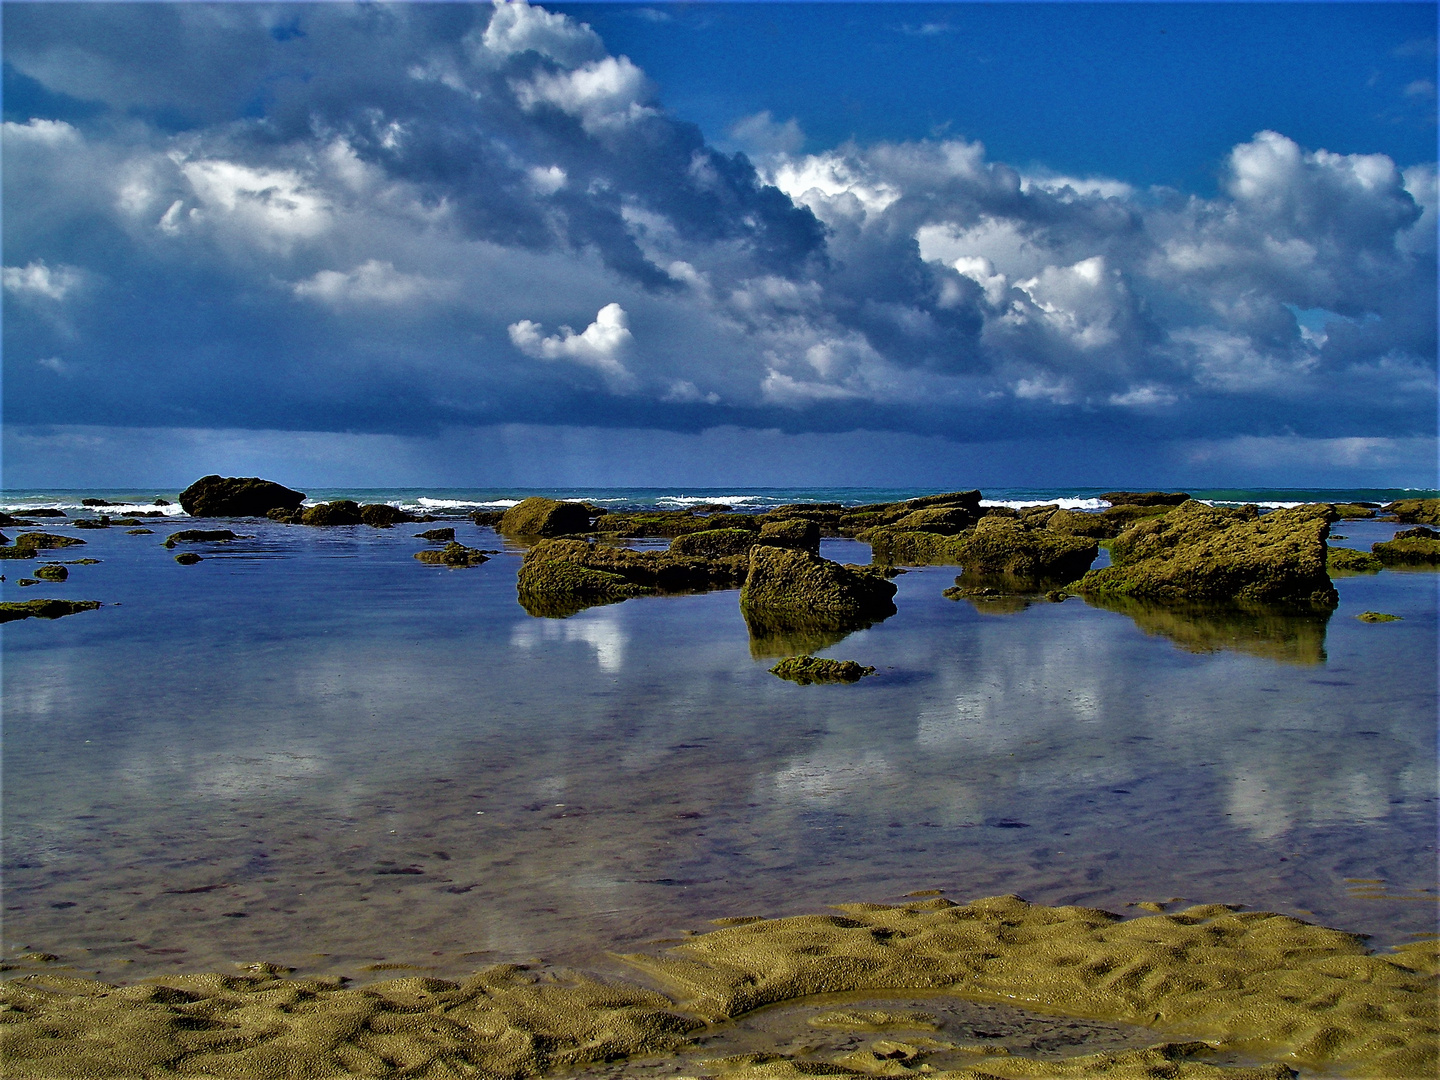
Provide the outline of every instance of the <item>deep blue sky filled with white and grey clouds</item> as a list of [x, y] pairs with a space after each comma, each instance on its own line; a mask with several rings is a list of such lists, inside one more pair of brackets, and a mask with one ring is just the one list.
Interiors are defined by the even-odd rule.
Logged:
[[1434, 4], [3, 33], [9, 488], [1436, 485]]

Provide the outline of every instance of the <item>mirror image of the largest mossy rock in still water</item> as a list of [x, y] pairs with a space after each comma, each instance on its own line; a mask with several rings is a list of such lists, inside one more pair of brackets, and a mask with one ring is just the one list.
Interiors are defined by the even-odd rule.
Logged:
[[1293, 606], [1161, 603], [1130, 596], [1086, 596], [1187, 652], [1236, 649], [1284, 664], [1323, 664], [1329, 611]]

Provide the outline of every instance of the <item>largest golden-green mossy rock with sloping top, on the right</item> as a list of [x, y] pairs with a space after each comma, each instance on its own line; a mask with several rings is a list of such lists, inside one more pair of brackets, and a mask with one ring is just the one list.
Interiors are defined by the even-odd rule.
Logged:
[[1110, 541], [1112, 564], [1076, 586], [1087, 595], [1335, 606], [1325, 572], [1328, 507], [1260, 517], [1185, 503]]

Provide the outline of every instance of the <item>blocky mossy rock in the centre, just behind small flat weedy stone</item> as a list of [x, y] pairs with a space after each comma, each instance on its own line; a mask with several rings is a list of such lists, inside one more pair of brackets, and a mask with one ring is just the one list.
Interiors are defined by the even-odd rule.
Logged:
[[894, 615], [896, 586], [878, 567], [842, 566], [791, 547], [750, 549], [740, 611], [766, 622], [835, 619], [841, 624]]

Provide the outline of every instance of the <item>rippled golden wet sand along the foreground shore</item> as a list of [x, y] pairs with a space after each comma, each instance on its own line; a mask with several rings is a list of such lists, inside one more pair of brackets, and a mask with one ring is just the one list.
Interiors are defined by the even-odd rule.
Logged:
[[[1434, 940], [1371, 953], [1361, 937], [1224, 904], [1126, 920], [1012, 896], [963, 906], [943, 899], [842, 904], [829, 914], [721, 922], [723, 929], [684, 945], [622, 958], [665, 992], [517, 965], [459, 982], [410, 976], [354, 988], [338, 978], [285, 978], [285, 969], [269, 965], [130, 986], [26, 975], [0, 984], [0, 1053], [16, 1080], [518, 1080], [634, 1057], [703, 1054], [693, 1032], [765, 1005], [821, 994], [927, 991], [1207, 1043], [1044, 1060], [920, 1035], [867, 1043], [865, 1032], [893, 1025], [896, 1014], [831, 1007], [822, 1022], [857, 1035], [844, 1057], [792, 1044], [687, 1061], [704, 1074], [746, 1080], [1279, 1080], [1292, 1076], [1290, 1066], [1390, 1080], [1436, 1074]], [[945, 1071], [926, 1064], [946, 1050], [968, 1054], [948, 1058], [953, 1064]], [[1269, 1064], [1200, 1060], [1212, 1051]]]

